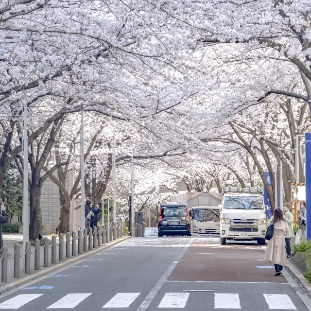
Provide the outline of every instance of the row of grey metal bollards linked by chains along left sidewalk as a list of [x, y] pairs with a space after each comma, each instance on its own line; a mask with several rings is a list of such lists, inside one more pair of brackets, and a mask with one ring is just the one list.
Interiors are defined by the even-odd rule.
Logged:
[[[66, 250], [66, 258], [72, 258], [81, 255], [83, 252], [90, 251], [92, 249], [97, 248], [98, 246], [104, 245], [109, 241], [115, 241], [116, 239], [120, 239], [125, 236], [125, 224], [122, 221], [118, 221], [116, 223], [110, 223], [109, 228], [108, 225], [102, 225], [98, 227], [89, 228], [89, 232], [87, 233], [87, 229], [78, 230], [78, 236], [76, 232], [73, 231], [66, 233], [66, 240], [64, 241], [64, 234], [59, 234], [59, 243], [56, 243], [56, 236], [52, 236], [52, 243], [50, 244], [49, 238], [44, 238], [44, 245], [42, 248], [40, 247], [39, 239], [35, 240], [35, 251], [31, 252], [31, 243], [26, 242], [25, 252], [20, 255], [20, 247], [21, 245], [15, 243], [14, 245], [14, 254], [8, 253], [7, 246], [2, 247], [1, 252], [1, 282], [8, 281], [8, 260], [14, 258], [14, 277], [20, 277], [20, 258], [25, 259], [25, 274], [30, 274], [31, 267], [31, 254], [35, 254], [34, 256], [34, 266], [35, 270], [40, 270], [40, 250], [43, 251], [43, 266], [49, 266], [49, 252], [51, 249], [51, 263], [56, 263], [57, 259], [57, 246], [59, 247], [59, 261], [64, 260], [64, 251]], [[78, 254], [77, 254], [77, 242], [78, 242]], [[66, 247], [64, 247], [66, 245]]]

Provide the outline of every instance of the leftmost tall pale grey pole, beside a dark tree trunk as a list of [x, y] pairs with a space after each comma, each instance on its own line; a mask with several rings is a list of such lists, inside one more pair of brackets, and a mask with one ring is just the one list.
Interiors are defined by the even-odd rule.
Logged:
[[27, 120], [27, 93], [24, 90], [24, 109], [23, 109], [23, 143], [24, 143], [24, 167], [23, 167], [23, 248], [26, 250], [26, 242], [29, 241], [29, 205], [28, 205], [28, 120]]

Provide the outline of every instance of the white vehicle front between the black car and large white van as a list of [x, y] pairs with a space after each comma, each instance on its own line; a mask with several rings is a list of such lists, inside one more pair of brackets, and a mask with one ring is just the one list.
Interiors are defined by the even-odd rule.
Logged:
[[214, 206], [197, 206], [189, 209], [190, 232], [194, 237], [219, 236], [220, 210]]

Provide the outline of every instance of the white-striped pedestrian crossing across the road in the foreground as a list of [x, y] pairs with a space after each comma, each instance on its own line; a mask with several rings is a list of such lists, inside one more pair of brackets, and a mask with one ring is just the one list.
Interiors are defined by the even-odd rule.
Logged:
[[[4, 302], [0, 302], [0, 309], [19, 309], [45, 294], [19, 294]], [[292, 299], [287, 294], [259, 294], [262, 297], [262, 309], [269, 310], [297, 310]], [[189, 302], [190, 293], [165, 293], [160, 303], [155, 306], [157, 309], [184, 309]], [[243, 309], [240, 301], [240, 294], [228, 293], [210, 293], [206, 299], [214, 299], [214, 309]], [[110, 298], [102, 308], [124, 309], [129, 308], [141, 297], [141, 293], [117, 293]], [[41, 300], [40, 309], [74, 309], [86, 299], [92, 298], [91, 293], [66, 294], [61, 299], [55, 301], [50, 306], [43, 306], [44, 300]], [[42, 299], [42, 298], [41, 298]], [[50, 300], [49, 300], [50, 301]], [[140, 303], [141, 301], [138, 301]], [[265, 304], [265, 307], [264, 307]], [[188, 303], [187, 307], [191, 307]], [[37, 309], [37, 308], [34, 308]]]

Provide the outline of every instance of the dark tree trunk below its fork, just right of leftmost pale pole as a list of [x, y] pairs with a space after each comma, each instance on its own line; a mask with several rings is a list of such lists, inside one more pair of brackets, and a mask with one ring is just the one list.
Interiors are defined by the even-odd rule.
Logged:
[[39, 239], [42, 233], [42, 215], [41, 215], [41, 189], [37, 183], [29, 188], [30, 196], [30, 221], [29, 221], [29, 239], [35, 241]]

